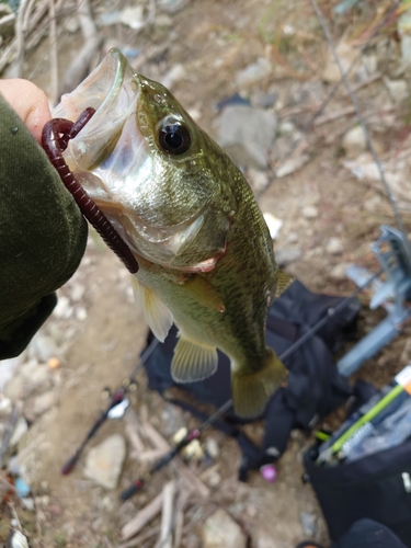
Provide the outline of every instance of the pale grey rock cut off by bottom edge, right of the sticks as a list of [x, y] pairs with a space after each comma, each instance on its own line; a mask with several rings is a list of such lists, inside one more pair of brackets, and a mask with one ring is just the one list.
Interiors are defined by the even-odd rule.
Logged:
[[229, 514], [219, 509], [204, 524], [203, 543], [203, 548], [246, 548], [247, 537]]

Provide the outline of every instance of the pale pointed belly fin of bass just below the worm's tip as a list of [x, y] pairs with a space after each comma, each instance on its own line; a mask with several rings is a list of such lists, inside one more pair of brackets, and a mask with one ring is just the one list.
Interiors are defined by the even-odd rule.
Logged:
[[135, 276], [133, 276], [133, 289], [136, 304], [142, 309], [149, 328], [160, 342], [164, 342], [173, 323], [173, 315], [159, 297], [140, 284]]

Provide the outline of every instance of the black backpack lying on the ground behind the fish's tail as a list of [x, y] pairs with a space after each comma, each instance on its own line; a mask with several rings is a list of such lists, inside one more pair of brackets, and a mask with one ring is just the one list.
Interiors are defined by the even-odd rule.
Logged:
[[[341, 297], [313, 294], [295, 281], [270, 308], [266, 322], [267, 345], [282, 356], [342, 300]], [[224, 420], [214, 423], [215, 427], [235, 436], [241, 447], [240, 480], [246, 481], [249, 469], [258, 469], [281, 457], [293, 429], [309, 431], [353, 393], [346, 378], [339, 375], [332, 354], [355, 328], [359, 308], [359, 301], [352, 299], [343, 311], [330, 317], [330, 321], [321, 330], [284, 361], [289, 370], [287, 386], [279, 388], [271, 397], [263, 415], [259, 418], [265, 420], [265, 433], [260, 447], [238, 429], [239, 424], [250, 421], [237, 416], [232, 408]], [[148, 344], [152, 339], [152, 333], [149, 333]], [[231, 398], [230, 364], [222, 353], [218, 353], [218, 369], [210, 377], [197, 383], [175, 383], [170, 373], [175, 344], [176, 329], [173, 327], [165, 341], [159, 343], [144, 359], [150, 389], [164, 395], [170, 387], [180, 387], [199, 402], [212, 403], [217, 408]], [[207, 418], [195, 406], [175, 399], [169, 401], [203, 420]]]

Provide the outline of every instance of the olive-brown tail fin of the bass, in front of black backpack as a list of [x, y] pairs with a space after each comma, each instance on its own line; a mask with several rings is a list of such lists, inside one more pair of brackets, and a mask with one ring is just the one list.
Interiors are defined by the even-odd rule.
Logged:
[[269, 350], [265, 365], [259, 370], [233, 368], [232, 401], [239, 416], [252, 419], [264, 411], [271, 395], [287, 378], [288, 372], [273, 350]]

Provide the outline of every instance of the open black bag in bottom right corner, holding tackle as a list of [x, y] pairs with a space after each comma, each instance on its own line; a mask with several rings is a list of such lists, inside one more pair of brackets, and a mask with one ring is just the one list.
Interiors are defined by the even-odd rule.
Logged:
[[317, 494], [332, 540], [367, 517], [411, 547], [411, 441], [333, 467], [316, 465], [316, 447], [305, 454], [305, 479]]

